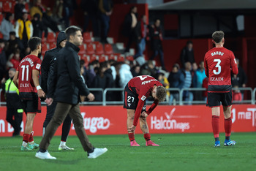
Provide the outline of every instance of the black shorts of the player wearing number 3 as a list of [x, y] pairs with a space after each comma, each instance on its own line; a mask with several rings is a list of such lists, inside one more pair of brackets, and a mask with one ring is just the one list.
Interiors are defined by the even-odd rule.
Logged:
[[218, 107], [222, 102], [222, 106], [229, 107], [232, 105], [232, 91], [228, 93], [208, 93], [206, 106]]

